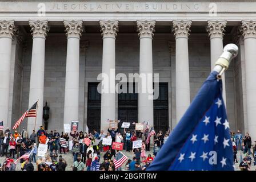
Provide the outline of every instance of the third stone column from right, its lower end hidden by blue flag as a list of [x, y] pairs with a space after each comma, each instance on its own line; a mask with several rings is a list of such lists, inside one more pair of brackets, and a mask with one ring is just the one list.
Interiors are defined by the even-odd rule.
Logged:
[[189, 48], [188, 37], [191, 21], [174, 20], [173, 32], [175, 36], [176, 50], [176, 121], [181, 119], [190, 105], [190, 87], [189, 87]]

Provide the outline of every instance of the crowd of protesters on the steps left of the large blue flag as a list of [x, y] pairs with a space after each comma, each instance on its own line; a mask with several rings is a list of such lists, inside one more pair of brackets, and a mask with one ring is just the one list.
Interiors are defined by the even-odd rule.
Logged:
[[[80, 131], [72, 131], [71, 133], [59, 134], [57, 130], [50, 131], [43, 129], [43, 126], [28, 136], [25, 128], [19, 133], [17, 130], [11, 133], [7, 128], [4, 132], [0, 131], [2, 136], [0, 139], [0, 151], [1, 156], [5, 156], [5, 162], [0, 166], [5, 171], [15, 171], [15, 160], [21, 156], [30, 152], [29, 158], [19, 159], [21, 163], [21, 169], [25, 171], [65, 171], [67, 162], [63, 158], [62, 154], [70, 152], [73, 154], [73, 164], [71, 168], [73, 171], [143, 171], [154, 160], [158, 154], [162, 145], [169, 137], [169, 131], [165, 134], [159, 131], [154, 135], [154, 147], [150, 151], [150, 143], [147, 143], [147, 137], [149, 131], [130, 131], [123, 130], [120, 132], [117, 129], [109, 129], [105, 131], [93, 130], [91, 133]], [[103, 138], [111, 138], [112, 142], [123, 143], [123, 150], [130, 153], [133, 156], [132, 159], [128, 159], [124, 167], [115, 168], [114, 159], [118, 154], [118, 150], [114, 150], [111, 145], [103, 145]], [[65, 139], [66, 143], [72, 140], [72, 150], [69, 151], [69, 146], [63, 146], [60, 140]], [[94, 142], [101, 140], [98, 144], [94, 145]], [[133, 142], [135, 140], [142, 140], [141, 148], [133, 148]], [[37, 156], [38, 144], [47, 144], [48, 152], [45, 156]], [[146, 155], [146, 152], [150, 151], [151, 154]], [[101, 160], [102, 158], [102, 160]], [[103, 161], [101, 163], [101, 161]], [[34, 169], [33, 163], [37, 168]]]

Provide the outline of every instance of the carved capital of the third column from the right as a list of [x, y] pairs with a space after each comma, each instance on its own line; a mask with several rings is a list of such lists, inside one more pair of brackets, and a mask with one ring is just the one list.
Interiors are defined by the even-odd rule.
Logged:
[[173, 32], [175, 39], [177, 38], [188, 38], [190, 27], [192, 21], [191, 20], [173, 20]]

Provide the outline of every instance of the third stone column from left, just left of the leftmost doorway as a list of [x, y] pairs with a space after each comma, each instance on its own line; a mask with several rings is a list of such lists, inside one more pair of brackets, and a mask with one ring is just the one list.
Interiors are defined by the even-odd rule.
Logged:
[[82, 20], [65, 20], [67, 35], [67, 62], [64, 101], [64, 124], [78, 121], [79, 112], [79, 42]]

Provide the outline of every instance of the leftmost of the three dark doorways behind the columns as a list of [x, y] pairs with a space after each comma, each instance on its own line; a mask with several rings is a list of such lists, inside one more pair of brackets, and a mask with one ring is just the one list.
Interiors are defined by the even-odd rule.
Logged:
[[101, 94], [98, 82], [88, 82], [87, 127], [89, 132], [101, 130]]

